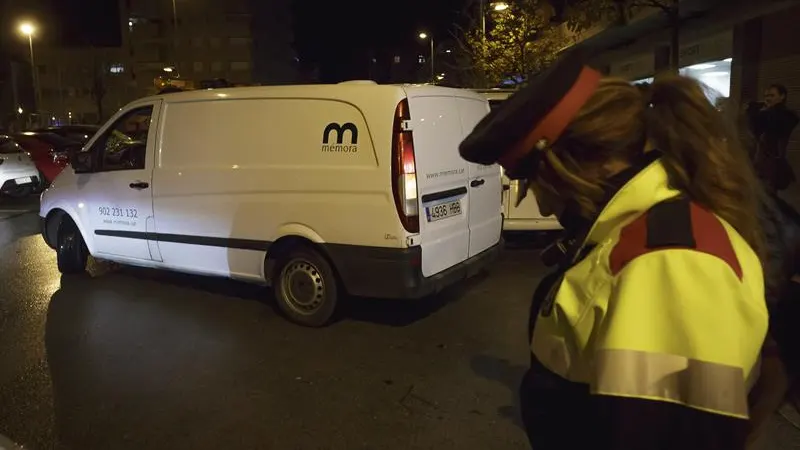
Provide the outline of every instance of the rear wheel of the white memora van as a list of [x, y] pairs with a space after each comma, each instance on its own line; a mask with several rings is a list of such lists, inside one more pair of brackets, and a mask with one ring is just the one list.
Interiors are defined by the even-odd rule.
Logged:
[[339, 301], [336, 274], [313, 249], [287, 251], [279, 258], [272, 280], [278, 307], [292, 322], [322, 327], [333, 318]]

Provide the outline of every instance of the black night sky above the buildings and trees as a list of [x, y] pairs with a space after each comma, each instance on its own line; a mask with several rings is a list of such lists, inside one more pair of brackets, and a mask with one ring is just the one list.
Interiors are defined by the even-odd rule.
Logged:
[[[164, 0], [169, 1], [169, 0]], [[253, 0], [266, 1], [266, 0]], [[363, 77], [375, 57], [424, 51], [417, 33], [446, 37], [468, 0], [295, 0], [295, 49], [301, 62], [318, 65], [321, 81]], [[116, 0], [0, 0], [1, 33], [7, 51], [18, 53], [18, 17], [44, 20], [48, 40], [67, 45], [113, 46], [120, 41]], [[37, 19], [42, 21], [41, 19]], [[25, 49], [22, 49], [25, 50]]]

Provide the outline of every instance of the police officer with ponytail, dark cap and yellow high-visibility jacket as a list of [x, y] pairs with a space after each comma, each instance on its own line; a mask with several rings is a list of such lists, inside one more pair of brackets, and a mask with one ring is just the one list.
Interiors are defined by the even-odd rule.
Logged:
[[736, 142], [695, 81], [638, 89], [572, 54], [461, 144], [565, 227], [531, 310], [534, 449], [744, 448], [768, 317]]

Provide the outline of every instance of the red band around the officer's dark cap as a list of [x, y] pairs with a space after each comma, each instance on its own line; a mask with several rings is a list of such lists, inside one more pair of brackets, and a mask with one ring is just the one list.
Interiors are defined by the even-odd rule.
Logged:
[[512, 170], [528, 153], [536, 149], [540, 141], [543, 145], [552, 145], [572, 119], [578, 115], [583, 105], [589, 101], [589, 98], [597, 90], [602, 77], [600, 72], [590, 67], [584, 67], [575, 80], [575, 84], [556, 106], [539, 121], [525, 138], [500, 157], [498, 160], [500, 165], [506, 170]]

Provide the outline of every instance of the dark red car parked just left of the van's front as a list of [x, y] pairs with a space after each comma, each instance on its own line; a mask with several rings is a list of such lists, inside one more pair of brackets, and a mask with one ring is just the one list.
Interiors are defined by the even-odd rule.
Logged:
[[53, 133], [26, 131], [15, 134], [13, 138], [30, 153], [45, 186], [52, 183], [69, 163], [69, 152], [82, 147], [79, 142]]

